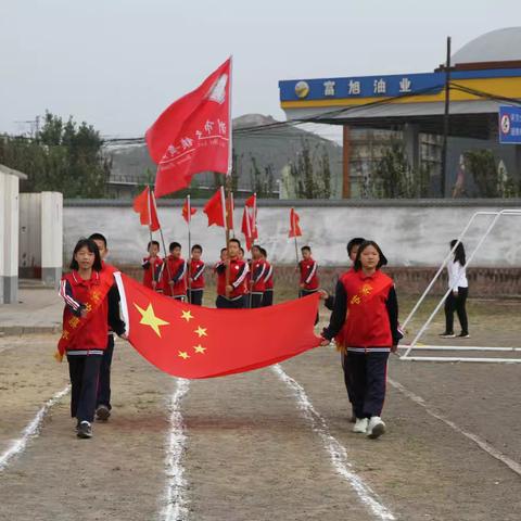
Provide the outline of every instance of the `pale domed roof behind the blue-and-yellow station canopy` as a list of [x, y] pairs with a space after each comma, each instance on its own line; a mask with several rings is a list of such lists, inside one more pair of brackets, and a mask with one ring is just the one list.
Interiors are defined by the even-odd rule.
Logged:
[[491, 30], [453, 54], [453, 65], [462, 63], [521, 61], [521, 27]]

